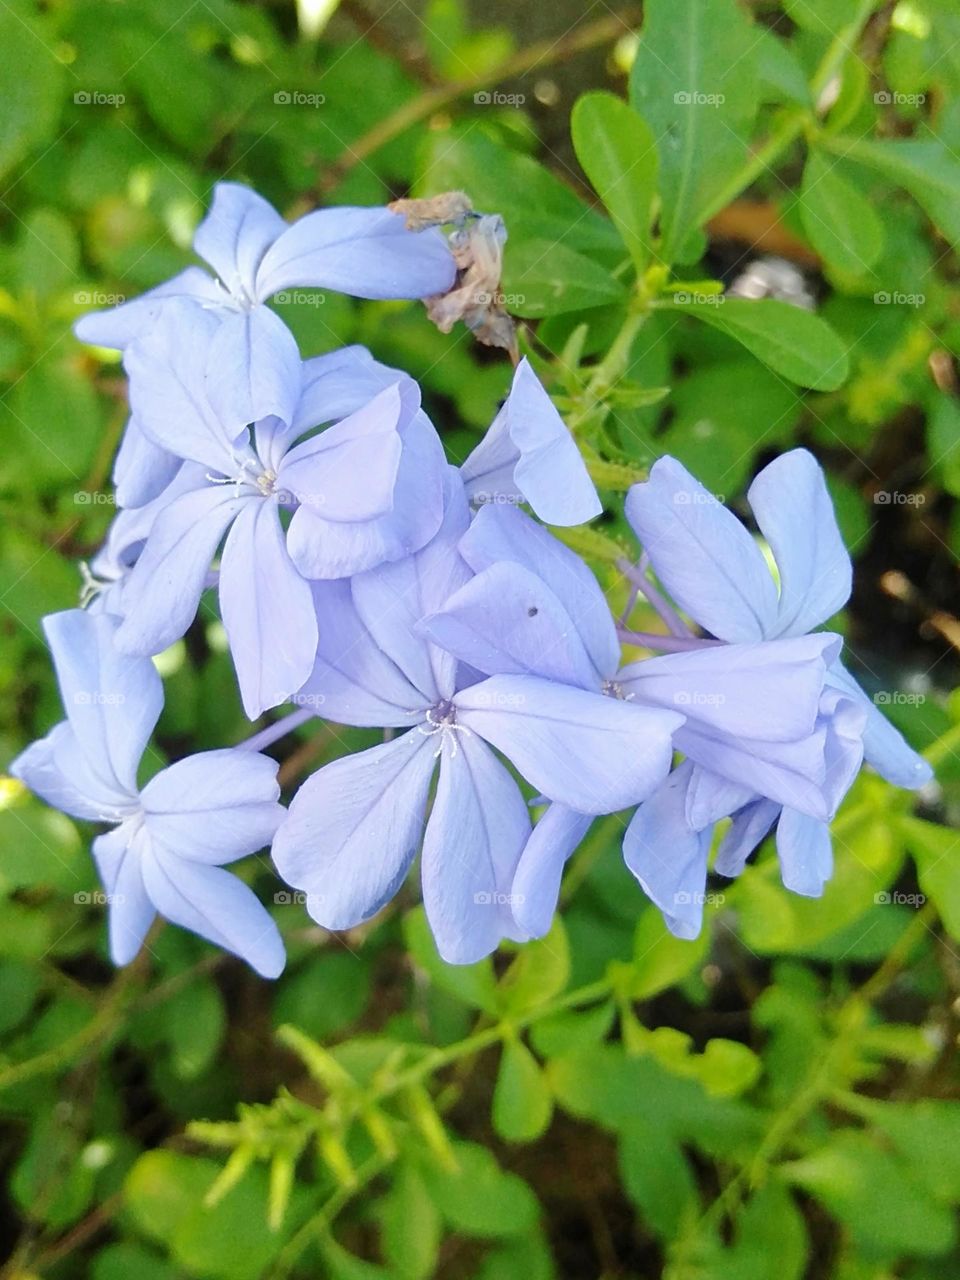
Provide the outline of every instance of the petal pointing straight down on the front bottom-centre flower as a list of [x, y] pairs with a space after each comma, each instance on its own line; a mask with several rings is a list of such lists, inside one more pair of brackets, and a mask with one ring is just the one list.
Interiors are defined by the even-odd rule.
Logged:
[[518, 936], [511, 895], [529, 836], [527, 806], [493, 751], [444, 735], [421, 874], [426, 918], [448, 964], [474, 964]]

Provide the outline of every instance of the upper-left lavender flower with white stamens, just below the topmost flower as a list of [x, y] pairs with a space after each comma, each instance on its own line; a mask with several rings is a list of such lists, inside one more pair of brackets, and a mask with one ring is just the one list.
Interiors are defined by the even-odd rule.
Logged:
[[[118, 644], [151, 654], [179, 639], [223, 541], [220, 612], [252, 719], [312, 668], [307, 579], [357, 572], [434, 532], [443, 453], [412, 379], [387, 383], [361, 352], [298, 362], [285, 416], [238, 425], [215, 344], [215, 320], [172, 308], [133, 348], [137, 421], [184, 461], [151, 503], [145, 547], [119, 594]], [[339, 421], [308, 434], [332, 417]]]

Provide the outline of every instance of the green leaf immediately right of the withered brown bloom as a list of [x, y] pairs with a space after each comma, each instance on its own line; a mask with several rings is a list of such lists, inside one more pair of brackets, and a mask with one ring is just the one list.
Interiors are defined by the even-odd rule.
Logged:
[[605, 268], [559, 239], [508, 241], [503, 291], [509, 296], [509, 310], [530, 320], [621, 302], [626, 297], [626, 288]]

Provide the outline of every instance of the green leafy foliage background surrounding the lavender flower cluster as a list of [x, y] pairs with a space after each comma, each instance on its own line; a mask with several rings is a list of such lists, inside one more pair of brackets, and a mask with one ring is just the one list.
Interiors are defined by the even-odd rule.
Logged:
[[[4, 759], [59, 718], [38, 620], [113, 511], [120, 369], [70, 323], [186, 265], [229, 177], [291, 215], [451, 188], [503, 214], [616, 607], [657, 454], [736, 506], [813, 448], [858, 564], [836, 625], [940, 786], [916, 810], [864, 776], [822, 901], [764, 850], [695, 943], [605, 819], [554, 932], [470, 969], [413, 887], [329, 937], [251, 859], [291, 955], [268, 984], [173, 928], [114, 974], [91, 832], [1, 783], [0, 1276], [960, 1277], [960, 10], [649, 0], [637, 42], [636, 12], [558, 4], [531, 44], [526, 6], [387, 9], [0, 6]], [[771, 244], [815, 312], [723, 297]], [[306, 353], [419, 376], [453, 458], [507, 389], [417, 305], [279, 307]], [[212, 608], [163, 664], [157, 765], [243, 736]], [[283, 776], [367, 740], [288, 740]]]

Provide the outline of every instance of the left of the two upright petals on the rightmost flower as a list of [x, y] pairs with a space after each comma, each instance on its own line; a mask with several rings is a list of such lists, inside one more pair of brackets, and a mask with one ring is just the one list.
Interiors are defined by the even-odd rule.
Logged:
[[744, 525], [681, 466], [660, 458], [626, 498], [626, 517], [676, 603], [721, 640], [762, 640], [777, 589]]

